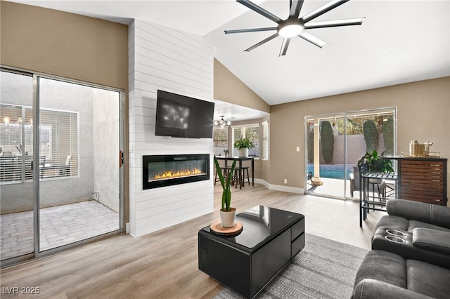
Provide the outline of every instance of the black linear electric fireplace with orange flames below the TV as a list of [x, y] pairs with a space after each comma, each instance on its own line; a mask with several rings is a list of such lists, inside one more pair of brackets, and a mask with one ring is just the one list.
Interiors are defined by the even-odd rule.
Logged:
[[209, 154], [164, 154], [142, 157], [143, 190], [210, 179]]

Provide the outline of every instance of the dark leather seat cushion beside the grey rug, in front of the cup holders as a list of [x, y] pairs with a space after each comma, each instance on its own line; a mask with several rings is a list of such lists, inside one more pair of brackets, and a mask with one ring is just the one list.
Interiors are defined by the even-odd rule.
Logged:
[[355, 286], [363, 279], [376, 279], [406, 288], [406, 262], [395, 253], [369, 251], [356, 273]]

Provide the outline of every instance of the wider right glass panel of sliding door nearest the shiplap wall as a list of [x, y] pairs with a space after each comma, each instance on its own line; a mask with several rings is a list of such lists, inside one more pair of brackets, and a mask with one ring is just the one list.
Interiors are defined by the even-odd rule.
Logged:
[[56, 79], [38, 84], [39, 251], [46, 251], [120, 229], [120, 96]]

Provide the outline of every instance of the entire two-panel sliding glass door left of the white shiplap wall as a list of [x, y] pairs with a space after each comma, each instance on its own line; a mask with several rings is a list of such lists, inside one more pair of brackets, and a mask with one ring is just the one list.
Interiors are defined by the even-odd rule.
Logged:
[[123, 92], [1, 76], [2, 264], [120, 232]]

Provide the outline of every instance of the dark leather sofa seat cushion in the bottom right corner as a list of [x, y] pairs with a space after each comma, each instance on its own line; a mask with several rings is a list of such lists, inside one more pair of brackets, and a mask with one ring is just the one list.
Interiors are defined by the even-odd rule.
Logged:
[[449, 298], [449, 269], [419, 260], [406, 260], [406, 272], [407, 286], [410, 291], [434, 298]]

